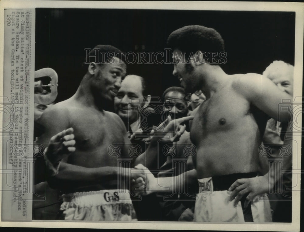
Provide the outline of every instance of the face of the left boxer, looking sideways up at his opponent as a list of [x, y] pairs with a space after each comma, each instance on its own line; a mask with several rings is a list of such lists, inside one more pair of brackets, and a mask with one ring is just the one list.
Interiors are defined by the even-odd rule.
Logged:
[[113, 57], [114, 63], [96, 65], [96, 74], [92, 81], [92, 93], [95, 98], [113, 101], [122, 79], [126, 76], [126, 64]]

